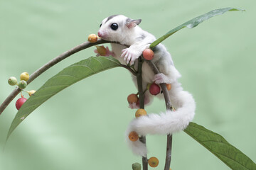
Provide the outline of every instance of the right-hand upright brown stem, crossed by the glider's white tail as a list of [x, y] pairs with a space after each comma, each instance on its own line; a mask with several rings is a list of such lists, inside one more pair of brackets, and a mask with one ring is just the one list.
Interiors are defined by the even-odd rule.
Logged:
[[[146, 63], [149, 64], [149, 67], [151, 67], [151, 69], [153, 70], [154, 74], [159, 74], [159, 69], [156, 67], [156, 65], [149, 61], [146, 60]], [[166, 84], [160, 84], [161, 89], [163, 91], [164, 94], [164, 100], [166, 103], [166, 110], [171, 110], [173, 107], [171, 106], [171, 99], [166, 87]], [[172, 135], [167, 135], [167, 145], [166, 145], [166, 163], [164, 166], [164, 170], [169, 170], [170, 169], [170, 165], [171, 165], [171, 146], [172, 146]]]

